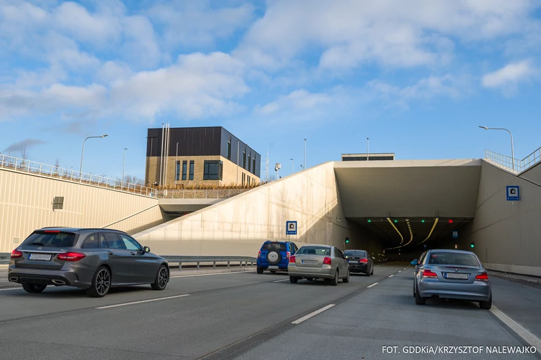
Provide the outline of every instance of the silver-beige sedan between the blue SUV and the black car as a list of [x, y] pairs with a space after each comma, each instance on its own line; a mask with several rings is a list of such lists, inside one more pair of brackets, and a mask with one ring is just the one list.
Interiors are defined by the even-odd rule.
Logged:
[[289, 258], [289, 280], [296, 284], [299, 279], [330, 280], [333, 286], [338, 279], [349, 282], [349, 264], [342, 251], [330, 245], [304, 245]]

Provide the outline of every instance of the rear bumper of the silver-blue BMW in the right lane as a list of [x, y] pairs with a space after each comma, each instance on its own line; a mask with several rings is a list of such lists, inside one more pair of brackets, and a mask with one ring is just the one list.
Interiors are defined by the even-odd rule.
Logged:
[[488, 301], [490, 299], [490, 282], [475, 281], [472, 284], [441, 282], [437, 279], [423, 279], [418, 284], [421, 297], [442, 297], [445, 299], [462, 299], [470, 301]]

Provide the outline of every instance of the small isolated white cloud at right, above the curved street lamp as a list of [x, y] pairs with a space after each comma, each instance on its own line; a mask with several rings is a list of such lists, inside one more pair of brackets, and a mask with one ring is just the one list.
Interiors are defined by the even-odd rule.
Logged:
[[492, 73], [483, 76], [483, 86], [491, 89], [502, 89], [506, 95], [516, 92], [518, 83], [525, 82], [538, 75], [538, 69], [529, 60], [511, 63]]

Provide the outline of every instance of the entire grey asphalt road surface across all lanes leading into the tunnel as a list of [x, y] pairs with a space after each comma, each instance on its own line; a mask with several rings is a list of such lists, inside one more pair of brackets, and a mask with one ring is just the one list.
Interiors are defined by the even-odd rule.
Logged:
[[[476, 304], [415, 306], [404, 267], [376, 267], [338, 286], [220, 273], [172, 278], [164, 291], [114, 289], [101, 299], [62, 287], [0, 291], [0, 359], [434, 359], [382, 354], [382, 346], [527, 345]], [[540, 323], [540, 312], [531, 317]]]

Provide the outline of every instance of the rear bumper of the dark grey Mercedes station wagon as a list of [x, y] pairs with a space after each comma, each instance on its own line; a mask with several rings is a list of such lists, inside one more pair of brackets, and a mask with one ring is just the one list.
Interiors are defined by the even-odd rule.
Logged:
[[8, 268], [8, 280], [18, 284], [66, 285], [81, 289], [88, 289], [91, 285], [88, 282], [82, 282], [75, 271], [27, 269], [12, 266]]

